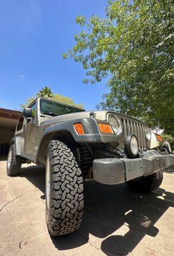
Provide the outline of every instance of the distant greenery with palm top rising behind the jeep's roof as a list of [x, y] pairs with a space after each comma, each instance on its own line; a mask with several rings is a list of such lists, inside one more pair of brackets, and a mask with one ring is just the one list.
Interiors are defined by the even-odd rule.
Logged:
[[76, 104], [74, 102], [74, 100], [69, 98], [69, 97], [61, 95], [59, 93], [53, 93], [52, 89], [50, 87], [47, 87], [47, 86], [42, 88], [40, 90], [40, 92], [36, 93], [36, 95], [34, 95], [33, 97], [27, 99], [25, 104], [20, 104], [20, 107], [22, 109], [27, 108], [29, 106], [29, 104], [31, 104], [31, 102], [33, 102], [33, 100], [36, 99], [36, 97], [44, 97], [44, 98], [47, 98], [47, 99], [52, 99], [52, 100], [55, 100], [55, 101], [62, 102], [64, 104], [69, 104], [69, 105], [75, 106], [77, 108], [82, 108], [82, 109], [84, 108], [83, 104]]

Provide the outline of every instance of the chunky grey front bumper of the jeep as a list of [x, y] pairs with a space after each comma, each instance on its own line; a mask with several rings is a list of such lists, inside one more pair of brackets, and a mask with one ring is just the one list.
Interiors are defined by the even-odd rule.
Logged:
[[150, 175], [171, 165], [174, 165], [174, 154], [163, 155], [156, 150], [147, 150], [142, 158], [95, 159], [93, 177], [103, 184], [119, 184]]

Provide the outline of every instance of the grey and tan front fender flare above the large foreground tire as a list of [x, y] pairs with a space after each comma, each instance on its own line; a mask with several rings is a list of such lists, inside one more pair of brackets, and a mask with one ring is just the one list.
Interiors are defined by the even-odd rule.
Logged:
[[[38, 152], [36, 154], [36, 163], [43, 162], [43, 158], [45, 158], [45, 150], [47, 150], [47, 146], [52, 138], [56, 138], [59, 140], [61, 138], [61, 134], [71, 134], [73, 140], [76, 143], [110, 143], [110, 142], [118, 142], [119, 140], [115, 133], [106, 134], [99, 131], [98, 123], [101, 122], [103, 124], [108, 124], [108, 122], [103, 120], [97, 120], [94, 118], [78, 118], [73, 120], [68, 120], [66, 122], [55, 123], [50, 127], [47, 127], [41, 136], [40, 145], [38, 146]], [[80, 123], [83, 125], [83, 130], [85, 134], [79, 135], [75, 131], [74, 124]], [[64, 136], [64, 140], [66, 140], [66, 136]]]

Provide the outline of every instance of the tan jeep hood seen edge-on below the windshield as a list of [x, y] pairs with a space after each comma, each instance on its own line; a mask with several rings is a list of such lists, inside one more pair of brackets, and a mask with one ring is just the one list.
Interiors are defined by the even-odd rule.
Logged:
[[[54, 116], [54, 117], [48, 118], [45, 122], [43, 122], [43, 125], [65, 122], [71, 119], [90, 117], [90, 113], [91, 111], [83, 111], [83, 112], [71, 113], [71, 114], [66, 114], [61, 116]], [[99, 120], [106, 120], [107, 113], [108, 111], [94, 111], [95, 118]]]

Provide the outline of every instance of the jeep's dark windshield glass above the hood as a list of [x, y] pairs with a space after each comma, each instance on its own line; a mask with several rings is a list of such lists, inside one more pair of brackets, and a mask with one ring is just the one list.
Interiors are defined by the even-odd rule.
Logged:
[[58, 116], [69, 113], [76, 113], [85, 111], [83, 109], [74, 108], [71, 106], [63, 105], [58, 102], [52, 102], [49, 100], [40, 100], [41, 113], [45, 115]]

